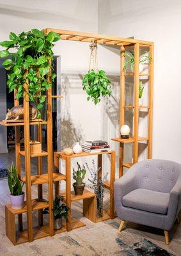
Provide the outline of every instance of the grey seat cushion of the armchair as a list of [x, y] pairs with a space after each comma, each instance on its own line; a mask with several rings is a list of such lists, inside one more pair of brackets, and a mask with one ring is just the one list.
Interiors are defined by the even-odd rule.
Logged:
[[168, 203], [169, 193], [141, 188], [131, 191], [122, 198], [122, 204], [125, 207], [159, 214], [167, 214]]

